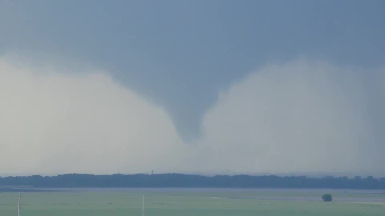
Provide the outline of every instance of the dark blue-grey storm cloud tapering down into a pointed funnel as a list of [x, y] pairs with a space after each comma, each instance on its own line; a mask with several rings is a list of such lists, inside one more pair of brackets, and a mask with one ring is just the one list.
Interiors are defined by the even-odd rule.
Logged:
[[0, 53], [105, 68], [161, 104], [190, 140], [217, 92], [254, 68], [300, 55], [382, 65], [384, 7], [383, 0], [0, 0]]

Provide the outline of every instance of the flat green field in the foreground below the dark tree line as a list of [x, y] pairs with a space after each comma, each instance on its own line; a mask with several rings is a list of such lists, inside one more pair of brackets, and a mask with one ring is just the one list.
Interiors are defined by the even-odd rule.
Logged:
[[[22, 216], [298, 216], [384, 215], [384, 194], [331, 191], [140, 189], [132, 191], [30, 192], [22, 197]], [[17, 215], [17, 193], [0, 193], [0, 216]], [[286, 199], [286, 200], [285, 200]], [[292, 200], [290, 200], [292, 199]], [[298, 199], [298, 200], [295, 200]], [[353, 200], [346, 202], [344, 200]], [[375, 202], [374, 202], [374, 201]]]

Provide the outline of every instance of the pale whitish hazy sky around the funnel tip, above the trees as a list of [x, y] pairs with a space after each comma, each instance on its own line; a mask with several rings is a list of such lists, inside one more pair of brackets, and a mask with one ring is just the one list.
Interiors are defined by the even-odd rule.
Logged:
[[219, 93], [192, 143], [108, 71], [66, 70], [0, 59], [3, 173], [378, 173], [385, 162], [384, 70], [258, 68]]

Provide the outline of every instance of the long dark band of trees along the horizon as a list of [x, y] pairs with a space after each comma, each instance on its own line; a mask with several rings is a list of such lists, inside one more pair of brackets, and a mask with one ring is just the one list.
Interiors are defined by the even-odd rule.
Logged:
[[0, 177], [0, 186], [33, 186], [36, 188], [127, 187], [127, 188], [341, 188], [385, 189], [385, 178], [355, 176], [314, 178], [307, 176], [250, 176], [191, 174], [60, 174], [57, 176]]

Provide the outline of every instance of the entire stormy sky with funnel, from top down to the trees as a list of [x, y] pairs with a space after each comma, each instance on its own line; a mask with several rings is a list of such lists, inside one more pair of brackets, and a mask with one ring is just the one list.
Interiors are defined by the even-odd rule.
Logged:
[[0, 173], [385, 176], [384, 7], [0, 0]]

